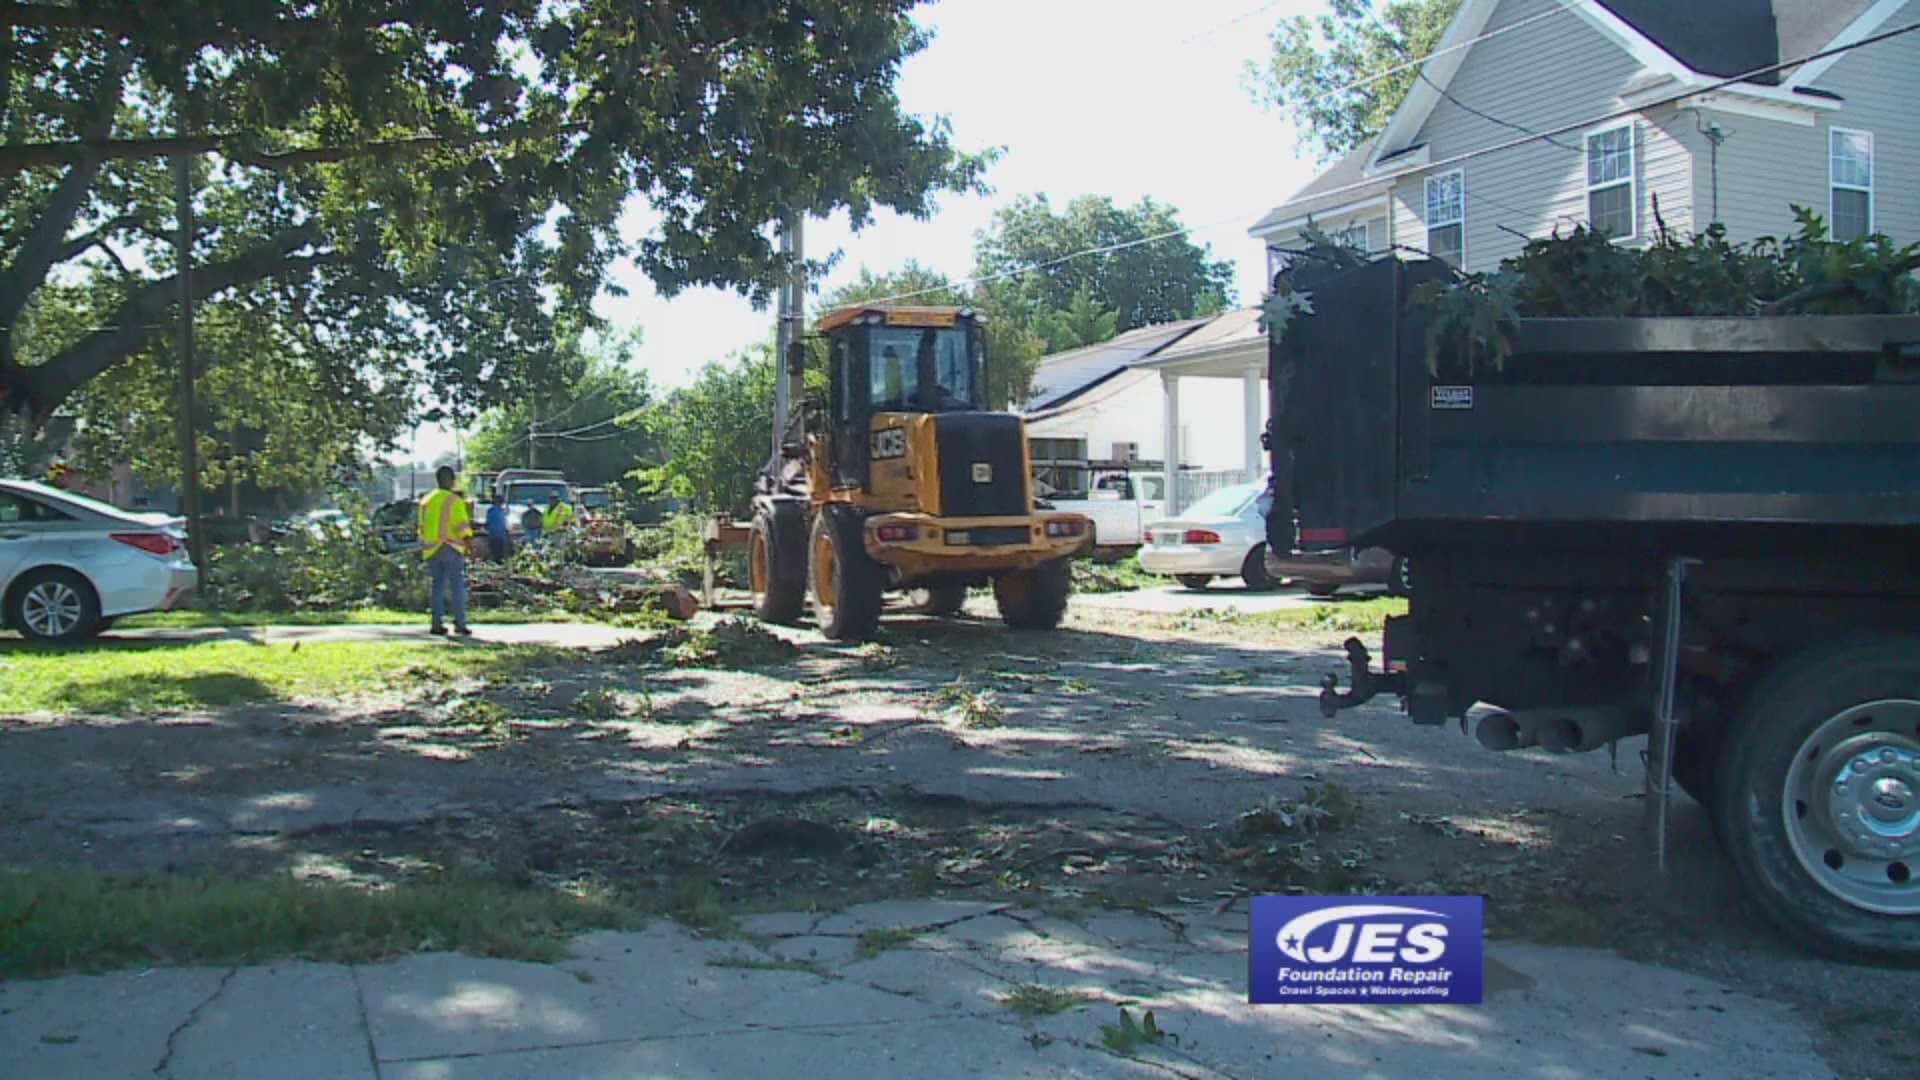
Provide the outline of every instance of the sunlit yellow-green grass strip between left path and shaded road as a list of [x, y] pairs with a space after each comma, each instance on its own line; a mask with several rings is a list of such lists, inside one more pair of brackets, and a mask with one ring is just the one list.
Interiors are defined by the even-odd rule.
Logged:
[[0, 715], [159, 713], [338, 698], [459, 675], [520, 671], [564, 650], [447, 642], [102, 642], [42, 648], [0, 640]]

